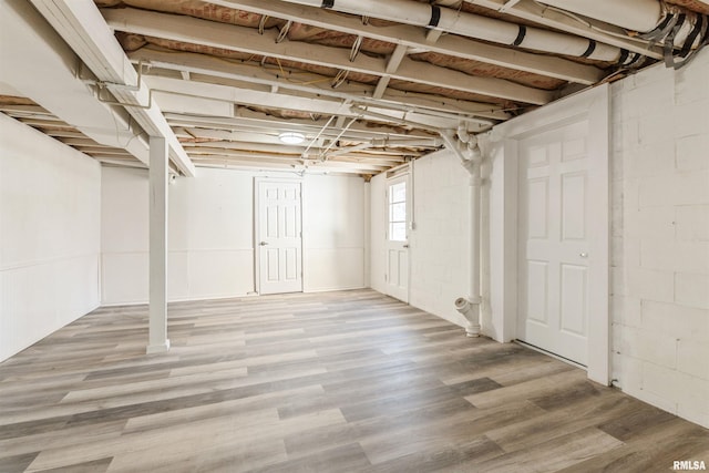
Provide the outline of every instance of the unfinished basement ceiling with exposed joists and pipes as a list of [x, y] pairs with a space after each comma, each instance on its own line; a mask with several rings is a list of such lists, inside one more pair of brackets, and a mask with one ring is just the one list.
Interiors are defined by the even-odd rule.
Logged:
[[[32, 3], [84, 60], [68, 39], [72, 27], [59, 25], [49, 6], [71, 2]], [[376, 2], [95, 0], [97, 18], [196, 166], [369, 177], [441, 148], [441, 130], [484, 132], [664, 60], [656, 39], [551, 1], [397, 0], [367, 14], [348, 12], [356, 3], [366, 9]], [[686, 42], [701, 48], [709, 3], [659, 4], [662, 12], [687, 14]], [[418, 24], [422, 11], [430, 20]], [[496, 23], [485, 34], [465, 29], [490, 21]], [[501, 40], [507, 30], [512, 39]], [[682, 44], [676, 45], [681, 54]], [[100, 79], [93, 84], [92, 73]], [[86, 63], [80, 76], [96, 95], [115, 95], [95, 66]], [[284, 144], [279, 135], [287, 132], [304, 141]]]

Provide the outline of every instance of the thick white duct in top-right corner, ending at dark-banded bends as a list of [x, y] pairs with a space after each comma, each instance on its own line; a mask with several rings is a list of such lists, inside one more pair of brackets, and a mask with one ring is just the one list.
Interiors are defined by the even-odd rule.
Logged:
[[[541, 0], [564, 11], [615, 24], [628, 35], [664, 45], [665, 63], [679, 69], [709, 43], [709, 16], [661, 0]], [[681, 58], [678, 60], [678, 58]]]

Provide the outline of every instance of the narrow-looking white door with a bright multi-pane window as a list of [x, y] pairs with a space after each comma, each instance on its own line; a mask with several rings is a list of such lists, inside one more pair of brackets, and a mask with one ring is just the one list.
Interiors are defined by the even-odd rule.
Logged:
[[409, 176], [387, 181], [387, 294], [409, 301]]

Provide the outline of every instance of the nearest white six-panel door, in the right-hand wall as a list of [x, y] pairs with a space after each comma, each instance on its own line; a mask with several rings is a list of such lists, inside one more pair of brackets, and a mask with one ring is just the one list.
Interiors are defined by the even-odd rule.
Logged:
[[[517, 338], [587, 366], [589, 301], [595, 271], [589, 251], [602, 225], [590, 214], [595, 183], [588, 122], [520, 140], [520, 274]], [[605, 216], [603, 216], [605, 218]], [[606, 288], [607, 289], [607, 288]], [[596, 289], [594, 289], [596, 290]]]

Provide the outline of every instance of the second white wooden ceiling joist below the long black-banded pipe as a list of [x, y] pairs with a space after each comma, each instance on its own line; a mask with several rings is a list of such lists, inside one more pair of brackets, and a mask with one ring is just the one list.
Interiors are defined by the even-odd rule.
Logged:
[[[276, 42], [277, 31], [268, 30], [264, 34], [259, 34], [255, 29], [130, 8], [103, 10], [103, 14], [111, 28], [119, 31], [299, 61], [380, 78], [388, 75], [384, 60], [360, 54], [357, 60], [350, 61], [341, 49], [305, 42]], [[405, 58], [402, 60], [399, 70], [390, 75], [392, 79], [401, 81], [535, 105], [543, 105], [555, 99], [554, 94], [548, 91], [500, 79], [473, 76], [424, 62], [414, 62]]]

